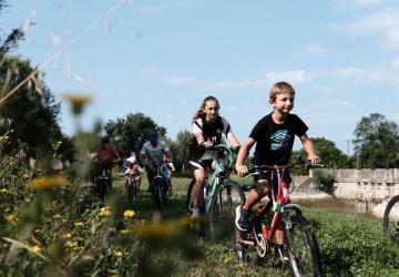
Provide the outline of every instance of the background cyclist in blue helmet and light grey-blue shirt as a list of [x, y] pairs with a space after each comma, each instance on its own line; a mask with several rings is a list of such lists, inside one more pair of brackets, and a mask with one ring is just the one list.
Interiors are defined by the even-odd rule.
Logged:
[[[149, 192], [152, 192], [152, 183], [158, 168], [163, 162], [171, 163], [173, 166], [173, 157], [170, 147], [165, 142], [160, 141], [160, 134], [157, 132], [151, 132], [149, 141], [144, 143], [140, 152], [140, 162], [145, 167], [149, 177]], [[174, 168], [174, 166], [173, 166]]]

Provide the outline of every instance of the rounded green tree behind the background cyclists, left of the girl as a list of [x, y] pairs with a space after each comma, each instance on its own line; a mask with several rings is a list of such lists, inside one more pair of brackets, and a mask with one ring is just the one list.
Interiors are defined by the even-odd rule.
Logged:
[[143, 113], [130, 113], [125, 117], [110, 120], [104, 129], [106, 134], [113, 137], [122, 156], [130, 156], [132, 152], [139, 152], [152, 131], [158, 131], [161, 136], [166, 134], [165, 127], [158, 126]]

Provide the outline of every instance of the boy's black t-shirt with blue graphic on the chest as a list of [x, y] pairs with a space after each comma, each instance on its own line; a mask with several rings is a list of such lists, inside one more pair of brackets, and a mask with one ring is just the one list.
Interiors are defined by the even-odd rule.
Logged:
[[257, 165], [286, 165], [293, 152], [295, 135], [301, 136], [308, 127], [295, 114], [288, 114], [283, 124], [272, 119], [272, 113], [255, 125], [249, 137], [256, 141], [254, 163]]

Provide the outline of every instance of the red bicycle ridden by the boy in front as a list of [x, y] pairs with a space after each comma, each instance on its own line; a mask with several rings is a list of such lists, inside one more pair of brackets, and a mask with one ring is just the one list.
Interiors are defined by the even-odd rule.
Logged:
[[[235, 230], [235, 252], [239, 260], [245, 260], [248, 247], [255, 247], [257, 257], [263, 260], [275, 249], [276, 256], [283, 259], [277, 244], [274, 242], [278, 224], [284, 226], [285, 250], [289, 261], [289, 268], [294, 276], [321, 276], [320, 249], [310, 224], [303, 215], [298, 204], [289, 202], [289, 191], [283, 179], [286, 170], [297, 165], [306, 167], [323, 166], [310, 165], [308, 161], [298, 158], [296, 162], [285, 166], [254, 166], [249, 168], [247, 176], [257, 174], [272, 174], [272, 193], [266, 206], [257, 206], [255, 215], [250, 216], [252, 229], [248, 233]], [[255, 185], [255, 184], [254, 184]], [[277, 186], [277, 187], [275, 187]], [[277, 192], [275, 192], [277, 189]], [[267, 218], [267, 212], [273, 208], [273, 217]], [[282, 222], [280, 222], [282, 220]]]

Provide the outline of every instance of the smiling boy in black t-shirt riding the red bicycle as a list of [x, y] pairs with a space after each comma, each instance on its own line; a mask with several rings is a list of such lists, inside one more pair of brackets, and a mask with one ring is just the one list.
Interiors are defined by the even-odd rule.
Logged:
[[[306, 134], [308, 127], [295, 114], [289, 112], [294, 107], [295, 90], [287, 82], [275, 83], [270, 89], [269, 104], [273, 112], [264, 116], [252, 130], [248, 140], [241, 147], [236, 161], [236, 171], [243, 176], [248, 173], [244, 164], [249, 150], [254, 146], [255, 165], [286, 165], [289, 162], [293, 151], [295, 135], [299, 136], [308, 158], [311, 163], [318, 163], [320, 158], [315, 153], [314, 145]], [[289, 184], [290, 177], [288, 172], [283, 178]], [[252, 207], [263, 197], [270, 193], [270, 175], [257, 175], [255, 177], [255, 189], [250, 191], [243, 206], [236, 208], [236, 227], [241, 232], [250, 229], [249, 214]], [[276, 230], [276, 239], [279, 249], [283, 252], [284, 230], [279, 226]]]

